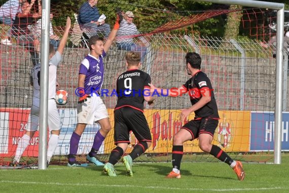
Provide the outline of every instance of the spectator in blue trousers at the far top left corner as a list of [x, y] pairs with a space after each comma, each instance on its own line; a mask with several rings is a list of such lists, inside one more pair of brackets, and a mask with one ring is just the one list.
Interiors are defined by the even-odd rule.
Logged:
[[[15, 16], [21, 11], [20, 4], [24, 0], [9, 0], [0, 7], [0, 23], [10, 25], [14, 23]], [[2, 37], [1, 44], [12, 45], [9, 38], [11, 36], [11, 28], [7, 31], [5, 37]]]

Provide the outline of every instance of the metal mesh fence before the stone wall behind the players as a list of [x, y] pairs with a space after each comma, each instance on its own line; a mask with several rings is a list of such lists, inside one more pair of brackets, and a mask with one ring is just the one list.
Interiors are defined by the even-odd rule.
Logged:
[[[249, 39], [221, 39], [208, 37], [157, 35], [146, 37], [147, 48], [142, 70], [151, 75], [152, 83], [159, 87], [179, 87], [190, 77], [186, 74], [185, 55], [197, 52], [202, 57], [201, 70], [213, 85], [219, 110], [274, 111], [275, 107], [275, 58], [274, 47], [264, 49], [259, 42]], [[125, 71], [124, 54], [115, 45], [105, 58], [105, 79], [102, 88], [112, 90], [116, 78]], [[66, 48], [59, 65], [57, 81], [60, 89], [70, 94], [64, 108], [76, 108], [79, 65], [86, 48]], [[284, 51], [283, 111], [288, 111], [287, 60]], [[32, 87], [29, 73], [32, 62], [29, 53], [17, 46], [1, 45], [1, 107], [30, 108]], [[107, 108], [114, 108], [115, 97], [105, 97]], [[190, 106], [189, 96], [158, 98], [153, 108], [179, 109]], [[149, 107], [148, 107], [149, 108]], [[152, 108], [152, 107], [150, 107]]]

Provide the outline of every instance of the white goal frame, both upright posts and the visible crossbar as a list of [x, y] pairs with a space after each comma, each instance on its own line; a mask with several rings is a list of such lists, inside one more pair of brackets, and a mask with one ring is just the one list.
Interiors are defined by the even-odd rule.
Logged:
[[[276, 45], [276, 86], [275, 86], [275, 131], [274, 131], [274, 164], [281, 164], [281, 127], [282, 127], [282, 92], [283, 92], [283, 28], [284, 4], [252, 0], [197, 0], [227, 5], [241, 5], [256, 8], [277, 10], [277, 45]], [[192, 1], [193, 3], [193, 1]], [[48, 66], [49, 66], [49, 15], [50, 0], [42, 1], [42, 37], [41, 37], [41, 96], [40, 96], [40, 143], [39, 170], [46, 169], [47, 154], [47, 116], [48, 116]]]

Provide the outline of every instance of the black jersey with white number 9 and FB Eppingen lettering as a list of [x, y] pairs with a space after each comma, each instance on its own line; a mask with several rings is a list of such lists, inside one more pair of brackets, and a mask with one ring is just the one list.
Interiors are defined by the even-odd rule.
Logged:
[[118, 102], [115, 110], [131, 107], [143, 111], [143, 95], [150, 94], [150, 83], [150, 75], [138, 69], [121, 74], [117, 79]]

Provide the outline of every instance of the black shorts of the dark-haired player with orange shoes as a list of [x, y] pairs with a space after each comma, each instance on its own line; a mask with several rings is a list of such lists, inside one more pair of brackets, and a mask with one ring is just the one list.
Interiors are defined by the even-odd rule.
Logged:
[[181, 128], [189, 131], [193, 137], [192, 140], [199, 137], [200, 134], [209, 134], [214, 137], [216, 127], [218, 127], [219, 120], [203, 117], [201, 119], [190, 120]]

